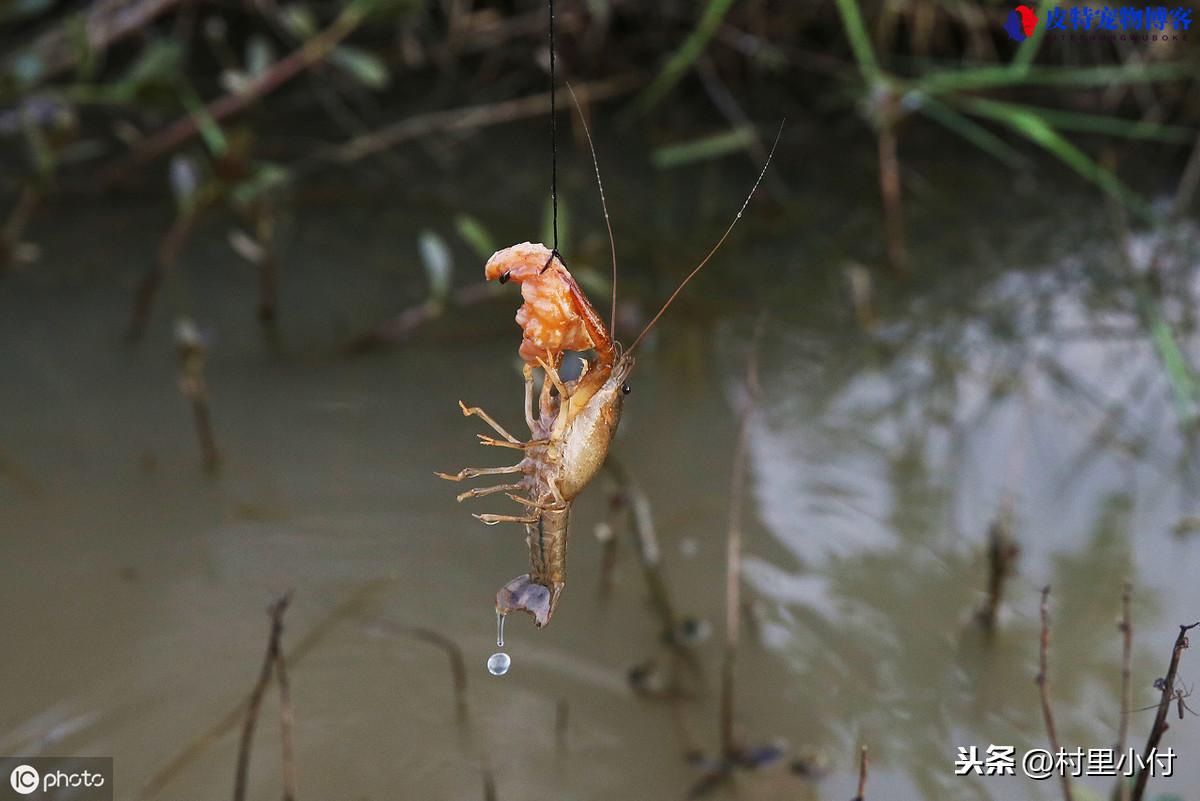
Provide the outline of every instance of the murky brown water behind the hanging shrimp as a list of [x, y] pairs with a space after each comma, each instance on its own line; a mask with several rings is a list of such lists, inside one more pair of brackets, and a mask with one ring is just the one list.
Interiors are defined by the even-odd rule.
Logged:
[[[793, 135], [796, 150], [814, 145]], [[534, 163], [535, 139], [493, 146]], [[605, 144], [626, 152], [608, 194], [624, 199], [614, 216], [634, 319], [703, 251], [752, 167], [654, 174], [641, 150]], [[511, 670], [485, 669], [493, 594], [526, 570], [522, 535], [475, 523], [432, 471], [502, 463], [473, 444], [479, 426], [456, 403], [518, 426], [514, 296], [454, 312], [402, 348], [337, 353], [420, 302], [422, 229], [452, 243], [460, 283], [479, 264], [455, 239], [455, 213], [500, 243], [536, 236], [542, 176], [497, 192], [494, 153], [455, 155], [449, 177], [400, 164], [367, 191], [335, 180], [301, 198], [283, 227], [272, 339], [253, 321], [256, 278], [226, 245], [226, 218], [188, 246], [139, 348], [120, 335], [166, 201], [65, 203], [34, 230], [42, 261], [0, 288], [0, 753], [112, 754], [118, 797], [156, 779], [152, 797], [224, 797], [236, 735], [222, 722], [257, 674], [268, 603], [290, 590], [302, 797], [474, 799], [485, 770], [500, 799], [677, 799], [697, 781], [684, 752], [713, 752], [719, 649], [695, 646], [703, 679], [685, 703], [631, 692], [629, 669], [665, 655], [620, 526], [600, 595], [602, 483], [576, 507], [553, 625], [511, 620]], [[587, 164], [575, 167], [569, 241], [578, 266], [602, 271]], [[1103, 224], [1081, 222], [1096, 205], [1085, 191], [1051, 206], [1031, 187], [998, 204], [1009, 176], [982, 165], [962, 187], [934, 170], [911, 207], [914, 278], [876, 281], [868, 335], [845, 267], [878, 255], [869, 163], [785, 153], [779, 170], [791, 197], [755, 207], [650, 341], [614, 446], [650, 502], [673, 603], [719, 633], [734, 409], [749, 332], [769, 308], [738, 718], [746, 742], [780, 743], [787, 760], [739, 775], [739, 797], [850, 797], [858, 742], [880, 797], [1055, 797], [1049, 782], [953, 776], [958, 746], [1045, 745], [1040, 586], [1054, 588], [1051, 680], [1070, 748], [1116, 736], [1122, 582], [1135, 586], [1136, 706], [1156, 699], [1175, 625], [1200, 619], [1189, 451], [1130, 313], [1128, 266]], [[1003, 231], [1001, 206], [1014, 223]], [[1135, 264], [1150, 247], [1133, 242]], [[1178, 287], [1174, 296], [1190, 303]], [[199, 470], [179, 397], [175, 311], [212, 337], [218, 478]], [[988, 529], [1006, 507], [1021, 554], [988, 644], [972, 615]], [[419, 630], [462, 651], [466, 725], [450, 661]], [[256, 741], [257, 799], [278, 794], [274, 703]], [[1135, 713], [1132, 742], [1151, 717]], [[1195, 718], [1172, 719], [1165, 742], [1177, 775], [1152, 795], [1187, 797], [1200, 782]], [[790, 760], [823, 777], [798, 777]]]

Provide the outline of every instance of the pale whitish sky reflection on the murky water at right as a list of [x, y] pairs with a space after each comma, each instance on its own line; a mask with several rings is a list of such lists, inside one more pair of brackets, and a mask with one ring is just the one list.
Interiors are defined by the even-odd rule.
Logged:
[[[1073, 747], [1115, 737], [1122, 583], [1144, 620], [1156, 604], [1195, 616], [1194, 584], [1166, 567], [1187, 555], [1171, 532], [1194, 502], [1192, 452], [1114, 261], [1096, 249], [1004, 272], [953, 305], [918, 299], [869, 341], [780, 326], [778, 391], [751, 451], [782, 554], [750, 558], [746, 574], [773, 606], [768, 642], [820, 688], [806, 699], [818, 740], [878, 741], [923, 797], [1008, 790], [949, 776], [953, 745], [1044, 745], [1030, 685], [1038, 585], [1054, 588], [1051, 679]], [[1189, 307], [1196, 275], [1175, 275], [1187, 283], [1172, 303]], [[804, 363], [779, 366], [788, 353]], [[971, 618], [980, 541], [1009, 504], [1022, 571], [988, 644]], [[1139, 705], [1157, 700], [1145, 677], [1165, 669], [1170, 638], [1158, 640]]]

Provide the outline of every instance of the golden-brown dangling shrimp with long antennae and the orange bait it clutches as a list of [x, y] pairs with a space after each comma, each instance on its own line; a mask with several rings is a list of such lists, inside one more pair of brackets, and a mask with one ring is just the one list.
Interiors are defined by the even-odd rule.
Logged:
[[[523, 457], [516, 464], [504, 468], [464, 468], [456, 474], [436, 474], [449, 481], [520, 475], [520, 478], [511, 483], [469, 489], [461, 493], [458, 500], [505, 493], [523, 507], [522, 514], [474, 514], [474, 517], [488, 525], [499, 523], [524, 525], [530, 570], [500, 588], [496, 595], [496, 609], [500, 615], [515, 610], [526, 612], [533, 618], [538, 628], [550, 622], [566, 584], [566, 544], [571, 505], [607, 458], [617, 426], [620, 423], [625, 396], [630, 393], [628, 379], [634, 369], [634, 350], [683, 288], [716, 254], [742, 219], [770, 165], [782, 126], [775, 135], [775, 141], [750, 194], [746, 195], [733, 222], [700, 264], [679, 283], [628, 350], [623, 350], [611, 333], [616, 320], [617, 253], [595, 147], [586, 122], [583, 131], [592, 147], [600, 201], [612, 248], [613, 309], [610, 325], [605, 326], [604, 319], [596, 313], [557, 251], [532, 242], [497, 251], [487, 260], [484, 269], [485, 277], [502, 284], [510, 279], [521, 284], [524, 300], [517, 311], [516, 321], [522, 330], [518, 354], [524, 361], [523, 411], [530, 439], [517, 439], [486, 411], [479, 406], [467, 406], [460, 401], [458, 405], [464, 416], [478, 416], [503, 438], [479, 434], [482, 445], [520, 450]], [[564, 351], [584, 350], [590, 355], [582, 359], [580, 377], [564, 381], [558, 373]], [[542, 373], [540, 392], [536, 392], [535, 369]]]

